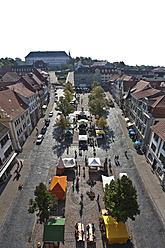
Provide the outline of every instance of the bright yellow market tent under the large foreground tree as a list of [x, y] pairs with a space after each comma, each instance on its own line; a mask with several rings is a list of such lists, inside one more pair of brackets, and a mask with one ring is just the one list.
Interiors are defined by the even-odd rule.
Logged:
[[112, 216], [102, 216], [105, 227], [106, 237], [109, 244], [124, 244], [128, 241], [129, 235], [124, 222], [116, 222]]

